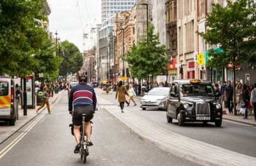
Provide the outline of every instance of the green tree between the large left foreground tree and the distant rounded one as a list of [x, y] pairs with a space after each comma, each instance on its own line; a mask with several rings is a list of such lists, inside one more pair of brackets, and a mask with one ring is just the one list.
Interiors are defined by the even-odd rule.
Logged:
[[35, 59], [38, 61], [39, 67], [35, 73], [44, 73], [44, 79], [54, 81], [59, 75], [61, 57], [55, 54], [56, 47], [50, 39], [42, 42], [40, 51], [36, 54]]

